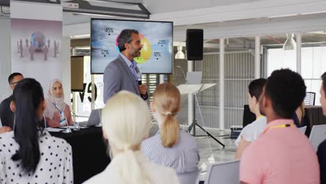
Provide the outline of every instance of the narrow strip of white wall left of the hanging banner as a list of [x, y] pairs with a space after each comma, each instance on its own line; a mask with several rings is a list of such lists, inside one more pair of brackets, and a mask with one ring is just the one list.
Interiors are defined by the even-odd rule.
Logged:
[[10, 19], [0, 19], [0, 100], [7, 98], [11, 93], [8, 76], [11, 73], [10, 65]]

